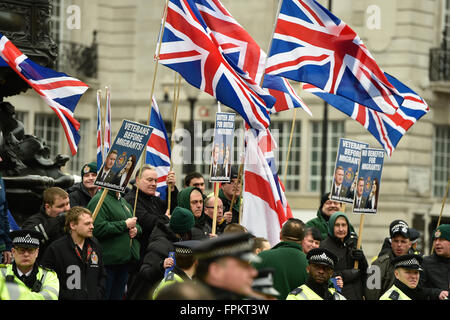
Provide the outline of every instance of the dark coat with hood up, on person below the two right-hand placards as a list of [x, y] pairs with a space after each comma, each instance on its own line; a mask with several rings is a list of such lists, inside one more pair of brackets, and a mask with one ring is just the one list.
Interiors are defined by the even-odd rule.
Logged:
[[342, 295], [347, 300], [362, 300], [368, 267], [367, 260], [364, 258], [364, 261], [359, 262], [358, 269], [354, 269], [356, 260], [352, 257], [352, 253], [356, 248], [357, 242], [356, 238], [352, 237], [354, 234], [348, 230], [344, 241], [341, 241], [334, 235], [334, 223], [340, 216], [345, 217], [350, 228], [349, 221], [344, 214], [334, 213], [328, 221], [328, 238], [320, 243], [320, 247], [330, 250], [338, 257], [333, 277], [342, 277], [344, 282]]

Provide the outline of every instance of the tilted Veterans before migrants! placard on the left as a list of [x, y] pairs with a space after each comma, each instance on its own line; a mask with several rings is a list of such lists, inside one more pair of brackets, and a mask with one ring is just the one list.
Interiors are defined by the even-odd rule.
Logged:
[[123, 120], [94, 184], [124, 192], [152, 131], [147, 125]]

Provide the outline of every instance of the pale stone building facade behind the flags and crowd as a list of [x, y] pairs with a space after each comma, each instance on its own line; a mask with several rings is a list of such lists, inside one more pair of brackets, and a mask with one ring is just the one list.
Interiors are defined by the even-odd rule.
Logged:
[[[75, 115], [81, 121], [82, 141], [79, 153], [66, 171], [79, 174], [81, 165], [95, 159], [96, 91], [111, 90], [113, 137], [123, 119], [147, 122], [150, 92], [156, 70], [153, 60], [163, 12], [163, 0], [53, 0], [53, 31], [60, 45], [59, 69], [86, 81], [91, 87], [82, 97]], [[277, 13], [276, 0], [223, 0], [231, 14], [268, 50]], [[320, 1], [324, 6], [328, 1]], [[441, 0], [339, 0], [332, 11], [362, 38], [381, 68], [396, 76], [427, 101], [430, 112], [402, 138], [391, 158], [385, 158], [379, 212], [366, 216], [363, 248], [368, 257], [376, 255], [388, 225], [404, 219], [422, 231], [422, 245], [428, 252], [430, 231], [434, 229], [450, 174], [450, 51], [446, 47], [450, 18], [448, 1]], [[95, 34], [94, 34], [95, 31]], [[449, 36], [450, 37], [450, 36]], [[77, 49], [75, 49], [77, 48]], [[83, 74], [83, 48], [96, 50], [96, 72], [88, 65]], [[82, 56], [82, 54], [81, 54]], [[81, 60], [80, 60], [81, 59]], [[69, 62], [70, 61], [70, 62]], [[92, 63], [92, 61], [91, 61]], [[86, 68], [84, 68], [86, 69]], [[171, 133], [175, 73], [159, 65], [155, 96], [167, 130]], [[293, 83], [300, 92], [300, 85]], [[296, 217], [305, 222], [316, 215], [321, 191], [323, 101], [300, 92], [313, 116], [298, 110], [294, 138], [288, 162], [287, 197]], [[30, 132], [42, 137], [52, 152], [69, 154], [58, 120], [43, 101], [30, 90], [8, 99]], [[227, 108], [222, 106], [222, 110]], [[215, 100], [182, 81], [176, 139], [195, 129], [195, 169], [208, 177]], [[359, 123], [328, 106], [326, 183], [331, 175], [339, 138], [364, 141], [371, 147], [381, 145]], [[276, 114], [272, 129], [278, 138], [278, 165], [283, 176], [293, 111]], [[239, 119], [239, 118], [238, 118]], [[238, 128], [242, 120], [237, 120]], [[187, 170], [183, 165], [189, 144], [179, 141], [173, 150], [178, 185]], [[242, 130], [237, 130], [235, 148], [242, 148]], [[235, 152], [235, 160], [238, 159]], [[209, 190], [211, 190], [209, 186]], [[447, 201], [448, 202], [448, 201]], [[347, 213], [356, 230], [360, 217]], [[450, 221], [450, 208], [443, 211], [443, 221]]]

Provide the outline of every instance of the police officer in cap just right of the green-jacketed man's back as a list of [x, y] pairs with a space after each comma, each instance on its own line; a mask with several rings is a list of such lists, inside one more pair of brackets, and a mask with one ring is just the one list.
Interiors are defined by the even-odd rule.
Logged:
[[306, 283], [292, 290], [286, 300], [346, 300], [330, 287], [330, 278], [337, 263], [337, 257], [325, 248], [311, 249], [308, 259]]

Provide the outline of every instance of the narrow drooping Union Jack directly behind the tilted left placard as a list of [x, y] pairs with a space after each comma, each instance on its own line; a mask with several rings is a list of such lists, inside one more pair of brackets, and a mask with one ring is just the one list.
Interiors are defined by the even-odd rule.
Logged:
[[147, 143], [147, 153], [145, 163], [156, 168], [158, 181], [156, 195], [167, 199], [167, 174], [170, 170], [170, 142], [167, 137], [166, 127], [159, 112], [155, 97], [152, 99], [152, 110], [149, 125], [153, 128], [150, 139]]

